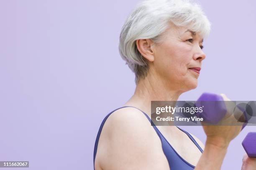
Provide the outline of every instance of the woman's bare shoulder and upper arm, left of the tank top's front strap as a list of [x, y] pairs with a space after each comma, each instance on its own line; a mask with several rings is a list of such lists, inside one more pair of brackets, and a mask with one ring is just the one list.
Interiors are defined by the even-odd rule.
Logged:
[[154, 154], [152, 144], [156, 134], [152, 128], [143, 112], [134, 107], [124, 107], [113, 112], [102, 128], [98, 143], [96, 159], [100, 168], [162, 168], [155, 161], [157, 153]]

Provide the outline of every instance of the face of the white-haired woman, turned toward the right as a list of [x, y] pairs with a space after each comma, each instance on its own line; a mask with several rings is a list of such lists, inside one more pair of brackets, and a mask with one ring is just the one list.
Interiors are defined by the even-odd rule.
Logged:
[[160, 81], [172, 90], [183, 92], [197, 87], [205, 59], [202, 41], [202, 37], [187, 28], [166, 30], [164, 40], [154, 46], [154, 62], [151, 63]]

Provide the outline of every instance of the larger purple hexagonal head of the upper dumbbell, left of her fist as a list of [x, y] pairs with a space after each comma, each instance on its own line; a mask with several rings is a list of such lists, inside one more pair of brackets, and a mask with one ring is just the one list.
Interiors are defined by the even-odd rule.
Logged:
[[227, 109], [223, 97], [213, 93], [203, 93], [195, 103], [196, 107], [203, 107], [203, 112], [197, 112], [204, 122], [218, 123], [226, 114]]

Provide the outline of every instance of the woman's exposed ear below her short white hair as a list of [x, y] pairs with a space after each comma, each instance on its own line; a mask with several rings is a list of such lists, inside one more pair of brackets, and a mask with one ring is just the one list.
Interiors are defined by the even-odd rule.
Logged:
[[154, 61], [154, 50], [153, 50], [153, 41], [150, 39], [139, 39], [136, 40], [136, 45], [138, 51], [141, 53], [143, 57], [145, 57], [148, 61]]

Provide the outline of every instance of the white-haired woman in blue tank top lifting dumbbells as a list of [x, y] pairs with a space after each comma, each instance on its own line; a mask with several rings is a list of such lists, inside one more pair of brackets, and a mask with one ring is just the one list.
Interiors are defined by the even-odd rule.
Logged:
[[94, 150], [96, 170], [220, 169], [241, 126], [204, 126], [204, 146], [176, 126], [151, 126], [149, 118], [151, 100], [176, 101], [197, 87], [209, 32], [207, 17], [189, 0], [144, 0], [136, 6], [119, 45], [135, 73], [136, 90], [103, 120]]

